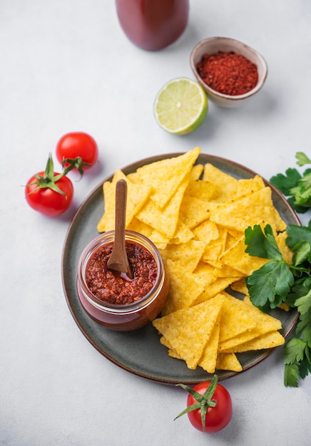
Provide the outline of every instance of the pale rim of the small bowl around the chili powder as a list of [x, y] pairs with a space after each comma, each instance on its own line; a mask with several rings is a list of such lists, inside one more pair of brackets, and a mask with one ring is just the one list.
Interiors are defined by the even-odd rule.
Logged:
[[[248, 51], [250, 51], [251, 53], [254, 54], [254, 56], [258, 59], [258, 61], [260, 62], [261, 66], [262, 66], [262, 77], [260, 79], [258, 79], [258, 83], [255, 85], [254, 88], [252, 88], [252, 90], [248, 91], [247, 93], [244, 93], [243, 95], [226, 95], [225, 93], [220, 93], [219, 91], [214, 90], [207, 83], [205, 83], [203, 81], [203, 79], [200, 77], [200, 75], [196, 69], [193, 58], [195, 56], [196, 51], [198, 51], [198, 48], [205, 45], [205, 43], [208, 43], [211, 41], [223, 41], [226, 43], [233, 43], [233, 44], [238, 43], [239, 46], [243, 46], [244, 48], [247, 48]], [[215, 96], [218, 98], [223, 98], [223, 99], [232, 100], [232, 101], [247, 99], [247, 98], [250, 98], [250, 96], [255, 95], [255, 93], [258, 93], [258, 91], [262, 88], [262, 85], [265, 83], [265, 80], [267, 78], [267, 71], [268, 71], [267, 70], [267, 62], [265, 61], [265, 58], [260, 53], [258, 53], [257, 50], [255, 50], [251, 46], [247, 45], [246, 43], [239, 41], [236, 38], [221, 37], [221, 36], [204, 38], [203, 40], [196, 43], [196, 45], [193, 47], [192, 51], [190, 52], [190, 66], [191, 66], [191, 69], [192, 69], [193, 74], [195, 75], [195, 78], [197, 79], [197, 81], [200, 83], [200, 85], [203, 86], [203, 88], [205, 88], [205, 90], [208, 93], [210, 93], [210, 95], [212, 97]]]

